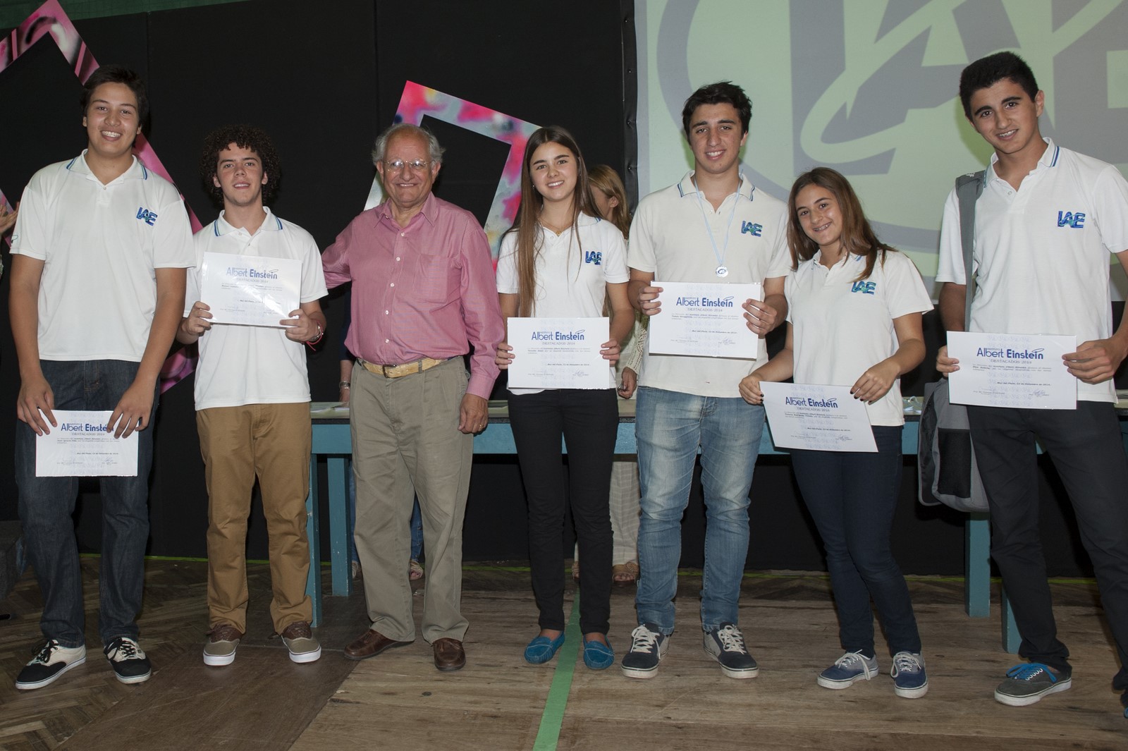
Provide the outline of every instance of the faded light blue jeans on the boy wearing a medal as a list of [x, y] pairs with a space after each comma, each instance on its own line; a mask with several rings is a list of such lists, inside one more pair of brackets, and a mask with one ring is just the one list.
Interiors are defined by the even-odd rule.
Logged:
[[635, 438], [642, 485], [638, 524], [638, 622], [673, 633], [681, 559], [681, 516], [689, 503], [697, 447], [705, 494], [702, 626], [738, 622], [748, 557], [748, 491], [760, 451], [764, 407], [740, 397], [638, 389]]

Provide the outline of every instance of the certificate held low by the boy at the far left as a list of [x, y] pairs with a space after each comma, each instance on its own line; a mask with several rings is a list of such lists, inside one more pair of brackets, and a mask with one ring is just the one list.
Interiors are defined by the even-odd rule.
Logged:
[[55, 409], [58, 427], [35, 439], [36, 477], [136, 477], [138, 432], [106, 432], [111, 412]]

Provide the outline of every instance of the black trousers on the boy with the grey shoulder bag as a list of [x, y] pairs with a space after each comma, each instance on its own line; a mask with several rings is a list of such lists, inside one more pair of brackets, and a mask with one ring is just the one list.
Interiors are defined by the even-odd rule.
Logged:
[[1019, 654], [1068, 668], [1069, 651], [1057, 638], [1038, 528], [1037, 435], [1069, 494], [1120, 663], [1128, 665], [1128, 459], [1112, 405], [968, 407], [968, 423], [990, 506], [992, 558], [1022, 635]]

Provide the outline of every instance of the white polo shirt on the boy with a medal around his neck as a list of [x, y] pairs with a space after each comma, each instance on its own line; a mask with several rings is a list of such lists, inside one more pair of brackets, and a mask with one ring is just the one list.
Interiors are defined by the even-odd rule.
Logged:
[[[741, 175], [737, 192], [714, 210], [704, 196], [698, 196], [693, 175], [686, 173], [677, 185], [651, 193], [638, 203], [631, 223], [627, 265], [653, 273], [659, 282], [747, 284], [786, 276], [791, 271], [786, 204], [756, 189]], [[721, 265], [716, 254], [723, 255], [729, 268], [723, 279], [715, 273]], [[653, 318], [650, 325], [655, 325]], [[647, 344], [640, 385], [740, 398], [740, 379], [766, 361], [763, 338], [757, 360], [651, 354]]]

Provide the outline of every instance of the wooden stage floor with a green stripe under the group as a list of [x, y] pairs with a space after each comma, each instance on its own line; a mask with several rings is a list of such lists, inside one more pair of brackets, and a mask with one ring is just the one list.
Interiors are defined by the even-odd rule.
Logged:
[[[82, 566], [87, 643], [95, 645], [98, 559], [83, 558]], [[0, 601], [0, 613], [11, 616], [0, 620], [0, 749], [1128, 749], [1128, 719], [1110, 686], [1116, 654], [1091, 582], [1054, 583], [1058, 628], [1073, 652], [1073, 688], [1014, 708], [992, 698], [1016, 661], [999, 647], [997, 606], [989, 619], [967, 618], [961, 580], [909, 582], [931, 689], [906, 700], [893, 695], [883, 645], [882, 674], [872, 681], [844, 691], [814, 683], [840, 654], [821, 575], [746, 576], [740, 620], [760, 675], [741, 681], [725, 678], [702, 650], [698, 572], [680, 577], [680, 630], [660, 674], [645, 681], [626, 679], [617, 668], [584, 668], [574, 619], [556, 660], [526, 664], [521, 653], [536, 633], [536, 610], [520, 564], [466, 567], [468, 664], [457, 673], [438, 672], [422, 638], [364, 662], [345, 660], [343, 645], [367, 627], [360, 593], [326, 598], [325, 625], [317, 629], [321, 660], [291, 663], [271, 635], [263, 564], [250, 567], [248, 635], [238, 659], [206, 668], [205, 576], [201, 562], [148, 563], [140, 624], [153, 663], [150, 681], [118, 683], [94, 650], [54, 684], [25, 692], [12, 681], [39, 638], [42, 608], [25, 574]], [[423, 592], [416, 594], [417, 621]], [[634, 626], [633, 597], [633, 587], [613, 593], [610, 640], [619, 655]]]

